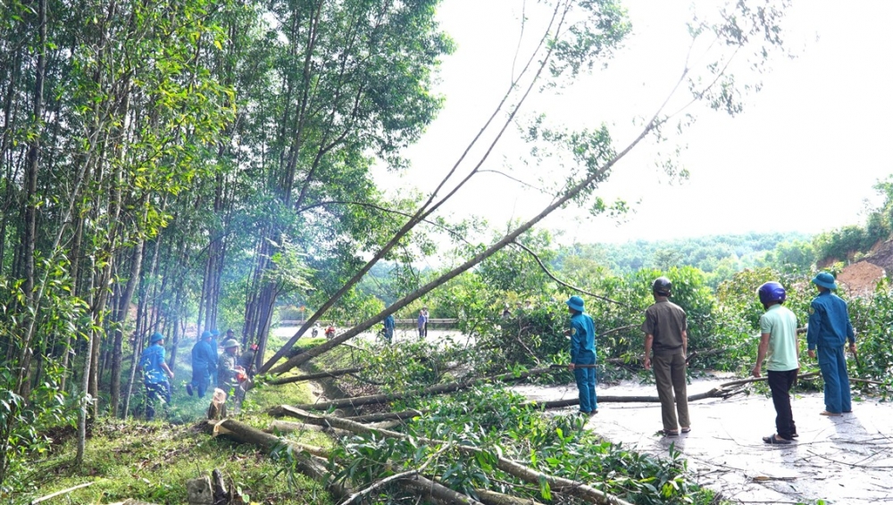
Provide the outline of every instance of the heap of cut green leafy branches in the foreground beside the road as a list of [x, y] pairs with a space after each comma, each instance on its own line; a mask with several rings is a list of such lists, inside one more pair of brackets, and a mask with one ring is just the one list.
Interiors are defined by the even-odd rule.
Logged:
[[[475, 489], [522, 493], [535, 500], [561, 502], [568, 498], [549, 488], [521, 485], [515, 477], [496, 468], [496, 456], [523, 461], [553, 476], [580, 480], [634, 503], [689, 503], [702, 499], [689, 477], [681, 454], [671, 448], [667, 458], [627, 451], [598, 440], [582, 429], [582, 418], [545, 416], [533, 405], [522, 404], [515, 393], [480, 386], [453, 397], [437, 397], [414, 405], [427, 410], [414, 418], [405, 440], [355, 436], [334, 451], [344, 463], [341, 479], [360, 486], [427, 463], [425, 474], [454, 489], [476, 496]], [[428, 445], [421, 438], [445, 441]], [[481, 451], [469, 457], [453, 447], [473, 446]], [[386, 464], [389, 461], [389, 464]], [[379, 501], [396, 500], [399, 491], [381, 491]]]

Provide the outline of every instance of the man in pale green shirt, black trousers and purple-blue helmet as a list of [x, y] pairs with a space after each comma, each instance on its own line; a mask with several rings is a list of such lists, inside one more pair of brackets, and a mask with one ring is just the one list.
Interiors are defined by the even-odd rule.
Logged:
[[756, 290], [765, 313], [760, 316], [760, 347], [756, 353], [756, 365], [752, 370], [759, 378], [763, 360], [766, 376], [775, 405], [775, 434], [764, 436], [764, 443], [788, 444], [797, 437], [794, 414], [790, 410], [790, 388], [797, 381], [797, 316], [782, 306], [787, 294], [784, 286], [767, 282]]

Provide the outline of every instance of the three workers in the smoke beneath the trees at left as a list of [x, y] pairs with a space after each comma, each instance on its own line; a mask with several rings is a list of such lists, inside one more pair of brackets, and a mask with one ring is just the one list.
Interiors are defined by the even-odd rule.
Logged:
[[[239, 343], [232, 329], [227, 330], [227, 338], [218, 344], [220, 331], [213, 329], [199, 335], [192, 347], [192, 381], [186, 385], [189, 396], [204, 393], [213, 385], [225, 395], [235, 396], [236, 402], [244, 398], [246, 380], [255, 375], [255, 353], [257, 344], [252, 344], [246, 352], [239, 353]], [[220, 347], [223, 352], [220, 352]], [[146, 418], [152, 420], [155, 404], [171, 403], [171, 382], [173, 370], [165, 360], [164, 335], [155, 332], [149, 337], [149, 346], [140, 356], [143, 382], [146, 385]]]

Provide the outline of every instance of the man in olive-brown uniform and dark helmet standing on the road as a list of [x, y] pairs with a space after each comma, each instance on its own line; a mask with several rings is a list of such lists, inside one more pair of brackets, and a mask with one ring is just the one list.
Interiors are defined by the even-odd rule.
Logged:
[[645, 310], [645, 322], [642, 323], [642, 331], [645, 332], [644, 365], [646, 370], [651, 369], [652, 359], [654, 360], [657, 396], [661, 400], [663, 420], [661, 433], [664, 436], [677, 436], [680, 428], [682, 433], [691, 431], [689, 396], [685, 384], [685, 356], [689, 351], [688, 320], [685, 310], [670, 302], [671, 293], [670, 279], [655, 278], [651, 283], [651, 294], [655, 297], [655, 302]]

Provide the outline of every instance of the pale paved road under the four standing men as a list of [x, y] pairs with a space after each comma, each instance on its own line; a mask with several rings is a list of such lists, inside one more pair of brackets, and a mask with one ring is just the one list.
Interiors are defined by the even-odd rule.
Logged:
[[[689, 394], [730, 379], [696, 381]], [[516, 389], [531, 399], [573, 398], [575, 386]], [[654, 386], [599, 387], [598, 394], [656, 395]], [[615, 443], [665, 456], [671, 443], [689, 460], [697, 481], [740, 503], [828, 503], [863, 505], [893, 502], [893, 404], [854, 402], [853, 413], [819, 415], [822, 393], [793, 402], [799, 439], [768, 445], [774, 433], [772, 399], [762, 394], [689, 403], [692, 431], [678, 438], [655, 435], [662, 427], [657, 403], [603, 403], [588, 427]]]

